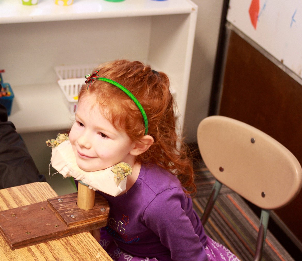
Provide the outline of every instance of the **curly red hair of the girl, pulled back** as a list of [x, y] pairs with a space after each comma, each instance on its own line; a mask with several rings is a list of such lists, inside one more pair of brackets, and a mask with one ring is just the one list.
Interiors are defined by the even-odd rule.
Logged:
[[[141, 164], [156, 164], [176, 175], [187, 193], [196, 192], [190, 150], [176, 133], [175, 100], [170, 92], [170, 80], [139, 61], [115, 60], [95, 68], [99, 77], [108, 78], [126, 87], [143, 106], [148, 118], [148, 135], [154, 139], [150, 148], [137, 156]], [[84, 84], [79, 100], [86, 94], [95, 96], [102, 114], [115, 128], [125, 131], [135, 142], [145, 134], [143, 116], [136, 104], [110, 83], [95, 80]], [[105, 110], [104, 110], [105, 108]], [[104, 113], [105, 111], [105, 113]]]

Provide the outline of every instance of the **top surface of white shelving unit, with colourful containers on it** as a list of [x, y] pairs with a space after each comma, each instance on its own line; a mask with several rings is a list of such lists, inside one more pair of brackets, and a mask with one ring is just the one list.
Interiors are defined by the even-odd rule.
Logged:
[[21, 5], [18, 0], [2, 0], [0, 24], [171, 15], [191, 11], [192, 2], [183, 0], [125, 0], [123, 2], [75, 0], [70, 6], [55, 5], [54, 0], [40, 0], [34, 6]]

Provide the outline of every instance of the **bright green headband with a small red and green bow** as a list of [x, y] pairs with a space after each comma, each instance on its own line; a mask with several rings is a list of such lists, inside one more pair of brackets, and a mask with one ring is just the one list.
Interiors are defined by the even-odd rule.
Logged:
[[135, 96], [129, 91], [127, 90], [123, 85], [115, 82], [114, 80], [111, 79], [107, 79], [107, 78], [103, 78], [103, 77], [98, 77], [98, 70], [96, 70], [93, 74], [88, 74], [85, 76], [85, 78], [87, 79], [85, 81], [85, 83], [89, 83], [89, 85], [87, 86], [87, 90], [90, 87], [90, 85], [93, 83], [94, 80], [99, 80], [99, 81], [104, 81], [107, 83], [111, 83], [112, 85], [118, 87], [120, 90], [122, 90], [124, 93], [126, 93], [131, 100], [134, 101], [134, 103], [137, 105], [138, 109], [140, 110], [140, 112], [142, 113], [144, 122], [145, 122], [145, 135], [147, 135], [148, 133], [148, 119], [147, 119], [147, 115], [145, 113], [145, 110], [143, 109], [143, 106], [140, 104], [140, 102], [137, 100], [137, 98], [135, 98]]

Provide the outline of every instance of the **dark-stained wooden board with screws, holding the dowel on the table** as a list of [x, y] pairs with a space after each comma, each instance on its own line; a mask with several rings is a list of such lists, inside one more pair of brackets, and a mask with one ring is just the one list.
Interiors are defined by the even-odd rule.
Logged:
[[77, 193], [0, 211], [0, 233], [14, 250], [71, 236], [107, 224], [109, 204], [97, 194], [90, 210], [77, 207]]

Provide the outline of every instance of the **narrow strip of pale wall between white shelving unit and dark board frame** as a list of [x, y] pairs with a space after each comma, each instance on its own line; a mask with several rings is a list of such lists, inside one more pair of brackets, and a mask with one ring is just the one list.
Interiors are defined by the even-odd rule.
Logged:
[[223, 5], [223, 0], [192, 1], [198, 5], [198, 18], [184, 124], [189, 143], [197, 142], [197, 126], [208, 113]]

